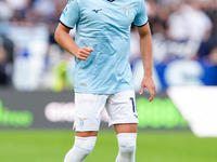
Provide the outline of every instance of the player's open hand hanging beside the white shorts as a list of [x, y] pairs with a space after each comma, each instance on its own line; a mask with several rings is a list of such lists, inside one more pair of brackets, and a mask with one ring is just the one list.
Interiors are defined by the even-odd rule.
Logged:
[[154, 99], [154, 95], [156, 93], [154, 80], [152, 77], [143, 77], [142, 83], [141, 83], [141, 89], [140, 89], [140, 95], [143, 94], [144, 87], [146, 87], [151, 94], [149, 102], [152, 102]]

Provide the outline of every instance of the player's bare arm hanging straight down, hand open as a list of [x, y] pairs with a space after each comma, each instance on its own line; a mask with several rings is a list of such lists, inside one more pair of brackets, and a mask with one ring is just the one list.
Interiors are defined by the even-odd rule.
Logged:
[[153, 70], [153, 56], [152, 56], [152, 36], [150, 31], [149, 23], [145, 25], [138, 27], [138, 32], [140, 36], [140, 51], [141, 58], [144, 68], [144, 76], [141, 82], [140, 95], [143, 94], [144, 87], [146, 87], [151, 94], [150, 102], [154, 99], [154, 95], [156, 92], [154, 80], [152, 78]]

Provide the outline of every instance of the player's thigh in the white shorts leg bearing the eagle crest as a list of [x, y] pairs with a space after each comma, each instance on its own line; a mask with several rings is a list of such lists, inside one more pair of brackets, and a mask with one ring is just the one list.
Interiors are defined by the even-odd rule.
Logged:
[[97, 134], [106, 98], [106, 95], [75, 93], [74, 130], [77, 135], [92, 136]]

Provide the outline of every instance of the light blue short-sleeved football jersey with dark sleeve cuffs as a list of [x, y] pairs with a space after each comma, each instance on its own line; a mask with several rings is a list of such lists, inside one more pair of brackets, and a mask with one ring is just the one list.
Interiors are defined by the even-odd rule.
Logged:
[[75, 58], [75, 92], [114, 94], [133, 89], [130, 27], [148, 23], [144, 0], [71, 0], [60, 22], [76, 26], [79, 48], [94, 50], [87, 60]]

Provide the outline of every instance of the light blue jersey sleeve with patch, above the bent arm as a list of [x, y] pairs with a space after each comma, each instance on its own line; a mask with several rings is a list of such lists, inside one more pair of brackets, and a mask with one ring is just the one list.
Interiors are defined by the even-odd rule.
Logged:
[[77, 0], [69, 0], [63, 10], [60, 22], [67, 28], [74, 28], [79, 19], [79, 5]]

